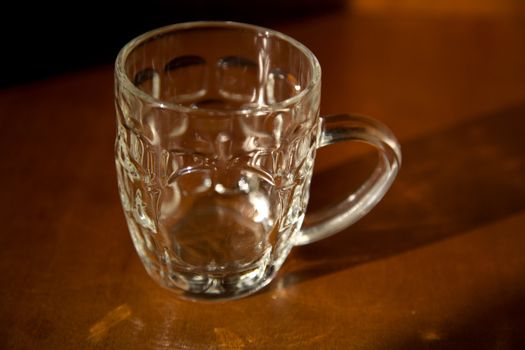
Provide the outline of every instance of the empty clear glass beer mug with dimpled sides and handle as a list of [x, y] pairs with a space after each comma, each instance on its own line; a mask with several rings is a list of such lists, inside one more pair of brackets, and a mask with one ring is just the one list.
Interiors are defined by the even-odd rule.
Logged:
[[[115, 66], [118, 188], [149, 275], [190, 299], [232, 299], [267, 285], [291, 248], [365, 215], [401, 163], [378, 121], [319, 116], [321, 68], [304, 45], [232, 22], [143, 34]], [[378, 149], [347, 199], [309, 213], [315, 152], [339, 141]]]

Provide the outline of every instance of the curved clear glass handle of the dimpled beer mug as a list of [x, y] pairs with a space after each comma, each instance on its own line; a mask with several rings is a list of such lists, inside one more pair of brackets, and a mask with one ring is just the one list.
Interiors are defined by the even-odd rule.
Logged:
[[379, 161], [370, 177], [345, 200], [308, 214], [295, 245], [329, 237], [366, 215], [385, 195], [401, 166], [401, 147], [394, 134], [379, 121], [358, 115], [321, 116], [317, 148], [340, 141], [358, 141], [377, 148]]

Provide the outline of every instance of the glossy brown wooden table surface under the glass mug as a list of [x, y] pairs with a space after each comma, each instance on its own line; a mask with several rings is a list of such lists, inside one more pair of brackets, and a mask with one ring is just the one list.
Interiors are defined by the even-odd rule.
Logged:
[[[295, 248], [246, 299], [183, 301], [144, 271], [117, 195], [112, 67], [0, 91], [0, 348], [525, 348], [524, 12], [355, 4], [275, 28], [319, 57], [322, 112], [387, 123], [403, 167], [365, 219]], [[321, 150], [311, 205], [372, 161]]]

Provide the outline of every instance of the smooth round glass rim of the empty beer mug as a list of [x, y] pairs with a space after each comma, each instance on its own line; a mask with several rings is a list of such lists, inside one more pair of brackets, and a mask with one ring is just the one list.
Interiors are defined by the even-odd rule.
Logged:
[[[205, 27], [232, 28], [232, 29], [245, 29], [245, 30], [247, 29], [247, 30], [253, 31], [254, 33], [263, 33], [266, 37], [275, 36], [281, 40], [284, 40], [290, 43], [292, 46], [294, 46], [296, 49], [298, 49], [302, 54], [306, 56], [310, 64], [310, 68], [312, 69], [312, 77], [310, 78], [306, 87], [302, 89], [297, 95], [294, 95], [283, 101], [279, 101], [279, 102], [272, 103], [269, 105], [248, 106], [248, 107], [242, 107], [240, 109], [192, 108], [192, 107], [185, 106], [179, 103], [168, 102], [160, 98], [155, 98], [151, 94], [144, 92], [143, 90], [135, 86], [135, 84], [133, 84], [133, 82], [130, 80], [130, 78], [128, 77], [124, 69], [125, 63], [128, 59], [128, 56], [131, 54], [131, 52], [133, 52], [137, 47], [151, 40], [155, 36], [159, 36], [159, 35], [169, 33], [169, 32], [175, 32], [178, 30], [192, 29], [192, 28], [199, 28], [199, 27], [200, 28], [205, 28]], [[145, 32], [133, 38], [132, 40], [130, 40], [126, 45], [122, 47], [122, 49], [119, 51], [117, 55], [117, 58], [115, 61], [115, 77], [117, 79], [117, 83], [119, 86], [123, 87], [125, 90], [127, 90], [132, 95], [136, 95], [140, 99], [148, 102], [151, 105], [159, 107], [159, 108], [176, 110], [179, 112], [186, 112], [186, 113], [202, 112], [202, 113], [209, 113], [209, 114], [224, 114], [224, 113], [251, 114], [254, 111], [255, 112], [259, 112], [259, 111], [267, 112], [267, 111], [286, 109], [296, 104], [298, 101], [304, 99], [319, 84], [321, 80], [321, 66], [319, 64], [317, 57], [304, 44], [276, 30], [253, 25], [253, 24], [241, 23], [241, 22], [196, 21], [196, 22], [176, 23], [176, 24], [171, 24], [168, 26], [160, 27], [157, 29], [153, 29], [153, 30]]]

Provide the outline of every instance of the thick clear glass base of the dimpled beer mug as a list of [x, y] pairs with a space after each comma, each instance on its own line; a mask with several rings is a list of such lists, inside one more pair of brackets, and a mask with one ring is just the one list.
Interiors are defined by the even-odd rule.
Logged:
[[223, 301], [245, 297], [268, 285], [278, 266], [260, 262], [255, 268], [237, 272], [175, 271], [157, 273], [146, 268], [151, 277], [162, 287], [188, 300]]

